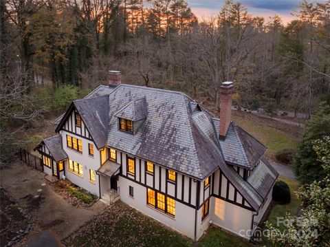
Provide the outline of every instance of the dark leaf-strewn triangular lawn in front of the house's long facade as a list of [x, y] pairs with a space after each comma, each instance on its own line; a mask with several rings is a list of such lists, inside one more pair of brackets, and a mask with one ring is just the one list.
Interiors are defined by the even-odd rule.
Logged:
[[122, 202], [92, 219], [67, 246], [190, 246], [192, 240]]

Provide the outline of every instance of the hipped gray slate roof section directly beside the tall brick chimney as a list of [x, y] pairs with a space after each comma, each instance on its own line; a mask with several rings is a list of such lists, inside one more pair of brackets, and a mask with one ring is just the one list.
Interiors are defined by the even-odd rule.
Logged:
[[[219, 130], [219, 119], [214, 118]], [[225, 140], [219, 140], [225, 162], [253, 169], [267, 148], [234, 122], [230, 123]]]

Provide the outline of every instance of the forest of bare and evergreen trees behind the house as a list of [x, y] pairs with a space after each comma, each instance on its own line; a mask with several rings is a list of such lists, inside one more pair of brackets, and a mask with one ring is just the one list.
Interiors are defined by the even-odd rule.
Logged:
[[7, 140], [13, 129], [106, 85], [110, 69], [124, 83], [179, 90], [218, 110], [228, 80], [234, 104], [248, 109], [311, 116], [320, 102], [330, 103], [330, 1], [302, 1], [286, 24], [277, 15], [252, 16], [236, 1], [209, 19], [197, 19], [184, 0], [0, 4]]

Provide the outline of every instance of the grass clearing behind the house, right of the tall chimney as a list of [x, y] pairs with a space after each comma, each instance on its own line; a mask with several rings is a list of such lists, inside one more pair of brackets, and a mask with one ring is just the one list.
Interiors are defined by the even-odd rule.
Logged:
[[296, 149], [298, 139], [287, 135], [283, 131], [272, 127], [257, 125], [251, 120], [235, 118], [234, 121], [245, 131], [248, 131], [254, 138], [268, 147], [268, 152], [272, 155], [281, 149]]

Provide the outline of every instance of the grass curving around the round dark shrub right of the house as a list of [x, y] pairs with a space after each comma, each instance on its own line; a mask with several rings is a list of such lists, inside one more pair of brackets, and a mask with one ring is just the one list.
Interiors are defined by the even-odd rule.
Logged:
[[[268, 222], [272, 223], [273, 226], [276, 226], [277, 217], [285, 217], [286, 213], [296, 215], [296, 213], [298, 212], [298, 208], [300, 206], [300, 202], [296, 197], [296, 193], [294, 193], [294, 191], [297, 191], [299, 187], [298, 182], [296, 180], [283, 178], [283, 177], [279, 177], [278, 180], [282, 180], [289, 185], [290, 193], [291, 193], [291, 201], [289, 202], [289, 204], [283, 204], [283, 205], [277, 204], [276, 206], [274, 206], [274, 208], [272, 208], [267, 220]], [[281, 224], [278, 228], [280, 230], [284, 230], [283, 224]]]

